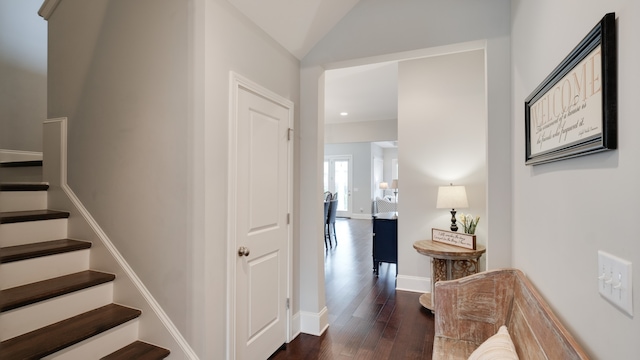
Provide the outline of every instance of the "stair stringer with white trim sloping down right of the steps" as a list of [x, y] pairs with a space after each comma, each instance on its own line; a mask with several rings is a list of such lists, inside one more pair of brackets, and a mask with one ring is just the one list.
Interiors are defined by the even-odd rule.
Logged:
[[[198, 355], [175, 324], [67, 184], [67, 119], [57, 118], [45, 121], [43, 141], [45, 149], [43, 169], [45, 177], [43, 180], [50, 186], [48, 206], [53, 209], [64, 209], [70, 213], [70, 219], [73, 221], [69, 222], [69, 237], [93, 243], [91, 248], [92, 267], [95, 266], [101, 271], [117, 274], [117, 280], [114, 282], [113, 301], [142, 311], [143, 315], [136, 320], [139, 331], [135, 339], [170, 349], [171, 359], [198, 360]], [[54, 355], [62, 356], [63, 353], [70, 353], [70, 351], [63, 350]], [[98, 353], [91, 352], [90, 356], [77, 355], [69, 358], [84, 359], [99, 358], [100, 356]], [[57, 359], [54, 356], [46, 357], [46, 359], [49, 358]]]

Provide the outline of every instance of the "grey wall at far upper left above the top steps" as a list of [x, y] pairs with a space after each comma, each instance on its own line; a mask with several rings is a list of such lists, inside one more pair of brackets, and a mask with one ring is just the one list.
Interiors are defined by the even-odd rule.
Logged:
[[0, 1], [0, 149], [42, 151], [47, 23], [42, 0]]

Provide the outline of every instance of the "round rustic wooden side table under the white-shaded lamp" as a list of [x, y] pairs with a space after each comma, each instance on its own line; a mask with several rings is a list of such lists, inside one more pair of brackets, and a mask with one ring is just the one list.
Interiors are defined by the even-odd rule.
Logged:
[[422, 255], [431, 257], [431, 293], [420, 296], [420, 304], [433, 310], [433, 290], [440, 280], [453, 280], [475, 274], [479, 271], [478, 260], [487, 249], [478, 244], [476, 250], [440, 243], [433, 240], [419, 240], [413, 248]]

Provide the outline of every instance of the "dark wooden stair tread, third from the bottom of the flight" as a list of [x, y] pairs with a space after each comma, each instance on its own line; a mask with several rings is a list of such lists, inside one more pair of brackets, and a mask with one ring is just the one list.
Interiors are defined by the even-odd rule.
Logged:
[[0, 291], [0, 312], [113, 281], [115, 275], [85, 270]]

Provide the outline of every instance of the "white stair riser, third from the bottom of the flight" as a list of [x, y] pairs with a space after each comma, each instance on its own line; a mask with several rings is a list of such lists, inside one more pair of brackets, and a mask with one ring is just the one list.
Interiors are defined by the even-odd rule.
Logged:
[[89, 249], [0, 265], [0, 289], [89, 270]]

